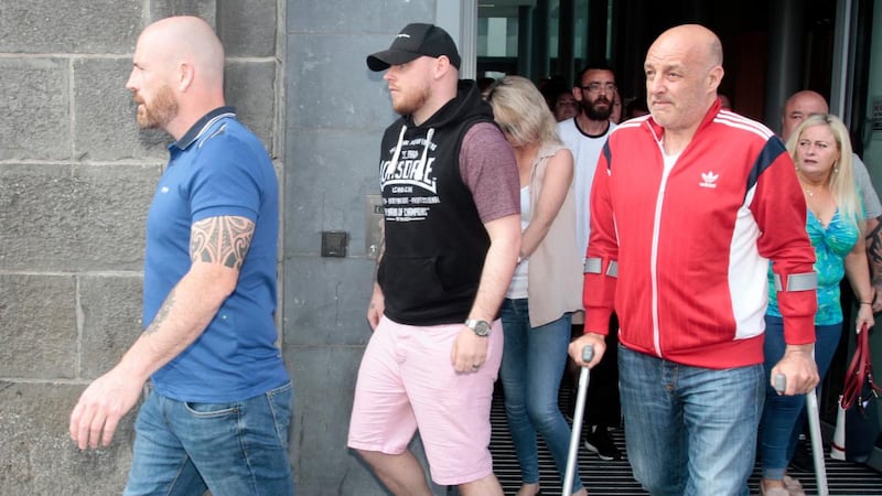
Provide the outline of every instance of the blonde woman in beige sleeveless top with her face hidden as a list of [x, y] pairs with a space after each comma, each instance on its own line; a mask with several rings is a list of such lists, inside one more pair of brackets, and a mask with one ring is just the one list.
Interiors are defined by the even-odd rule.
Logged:
[[[505, 345], [499, 369], [505, 410], [524, 484], [539, 493], [537, 431], [561, 474], [570, 428], [558, 408], [571, 313], [581, 309], [582, 257], [576, 249], [572, 153], [529, 79], [506, 76], [487, 94], [493, 116], [512, 143], [520, 175], [520, 257], [503, 301]], [[579, 474], [573, 494], [585, 495]]]

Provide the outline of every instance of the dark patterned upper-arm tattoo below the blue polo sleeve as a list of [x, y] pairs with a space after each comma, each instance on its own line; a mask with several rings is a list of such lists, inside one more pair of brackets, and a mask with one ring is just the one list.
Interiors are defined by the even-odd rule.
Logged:
[[190, 231], [190, 259], [194, 262], [222, 263], [239, 270], [251, 238], [255, 224], [245, 217], [208, 217], [193, 224]]

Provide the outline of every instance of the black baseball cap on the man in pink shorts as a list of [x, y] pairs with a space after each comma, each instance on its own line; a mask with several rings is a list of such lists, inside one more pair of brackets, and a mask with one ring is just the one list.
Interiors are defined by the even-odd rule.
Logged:
[[447, 31], [433, 24], [408, 24], [395, 36], [389, 50], [367, 56], [370, 71], [386, 71], [390, 65], [404, 64], [420, 56], [438, 58], [445, 55], [454, 67], [460, 68], [460, 53]]

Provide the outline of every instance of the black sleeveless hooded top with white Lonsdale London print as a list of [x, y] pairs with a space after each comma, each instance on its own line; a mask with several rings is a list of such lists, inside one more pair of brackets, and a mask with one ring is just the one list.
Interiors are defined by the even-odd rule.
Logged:
[[477, 293], [490, 237], [460, 174], [463, 136], [493, 122], [472, 80], [421, 126], [386, 129], [380, 188], [386, 248], [377, 271], [386, 316], [408, 325], [463, 322]]

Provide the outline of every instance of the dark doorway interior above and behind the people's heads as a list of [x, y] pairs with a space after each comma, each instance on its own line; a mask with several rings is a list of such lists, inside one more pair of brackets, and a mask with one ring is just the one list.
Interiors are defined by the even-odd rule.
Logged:
[[[571, 85], [587, 61], [609, 60], [616, 69], [623, 100], [644, 98], [643, 61], [653, 40], [670, 26], [700, 23], [713, 30], [723, 43], [727, 75], [720, 93], [729, 96], [740, 114], [765, 120], [766, 107], [781, 105], [777, 99], [767, 98], [770, 80], [789, 82], [787, 86], [794, 89], [810, 88], [829, 97], [836, 3], [494, 1], [478, 8], [478, 39], [483, 45], [478, 46], [477, 75], [519, 74], [536, 82], [558, 76]], [[487, 53], [486, 46], [494, 45], [501, 31], [505, 43], [496, 40], [495, 45], [505, 50]], [[770, 61], [779, 60], [782, 52], [786, 64], [771, 67]], [[778, 125], [767, 123], [773, 129]]]

